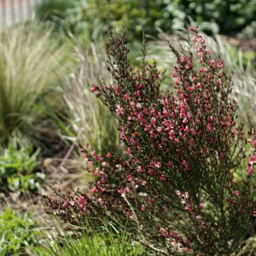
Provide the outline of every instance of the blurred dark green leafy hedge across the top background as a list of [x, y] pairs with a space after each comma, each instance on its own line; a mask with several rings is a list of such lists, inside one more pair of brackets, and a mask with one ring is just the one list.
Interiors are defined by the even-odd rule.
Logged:
[[256, 15], [255, 0], [88, 0], [75, 1], [73, 7], [67, 3], [59, 0], [42, 3], [39, 17], [47, 17], [57, 28], [73, 33], [83, 33], [84, 29], [92, 38], [96, 38], [93, 34], [106, 32], [108, 25], [121, 24], [129, 28], [133, 38], [141, 38], [142, 31], [156, 36], [158, 27], [173, 32], [188, 26], [191, 18], [205, 32], [243, 31], [247, 36], [254, 33], [251, 30]]

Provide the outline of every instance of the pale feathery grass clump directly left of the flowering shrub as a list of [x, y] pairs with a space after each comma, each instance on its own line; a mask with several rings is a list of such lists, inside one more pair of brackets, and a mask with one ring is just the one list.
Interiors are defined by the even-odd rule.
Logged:
[[106, 53], [90, 44], [86, 49], [77, 49], [77, 58], [80, 69], [66, 79], [63, 92], [71, 131], [68, 139], [84, 147], [89, 143], [98, 154], [118, 151], [117, 121], [90, 89], [90, 85], [99, 84], [100, 77], [110, 84], [110, 75], [104, 67]]

